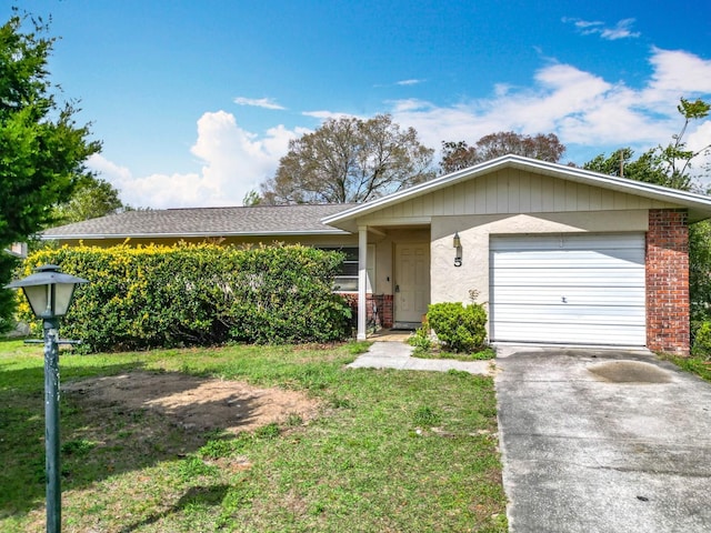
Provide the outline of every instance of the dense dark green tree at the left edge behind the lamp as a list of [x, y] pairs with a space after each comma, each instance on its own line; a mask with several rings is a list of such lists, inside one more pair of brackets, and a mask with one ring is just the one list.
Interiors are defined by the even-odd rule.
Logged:
[[[71, 198], [87, 158], [101, 149], [88, 125], [77, 125], [77, 109], [57, 102], [47, 70], [57, 39], [48, 32], [41, 19], [17, 10], [0, 27], [0, 253], [51, 222], [53, 207]], [[0, 286], [11, 275], [6, 257]], [[0, 328], [11, 324], [11, 301], [0, 298]]]

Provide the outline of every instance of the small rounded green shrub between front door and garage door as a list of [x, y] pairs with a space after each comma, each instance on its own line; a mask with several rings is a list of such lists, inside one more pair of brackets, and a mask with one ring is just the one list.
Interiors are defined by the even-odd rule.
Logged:
[[428, 322], [445, 350], [472, 352], [484, 345], [487, 311], [479, 303], [464, 306], [461, 302], [430, 304]]

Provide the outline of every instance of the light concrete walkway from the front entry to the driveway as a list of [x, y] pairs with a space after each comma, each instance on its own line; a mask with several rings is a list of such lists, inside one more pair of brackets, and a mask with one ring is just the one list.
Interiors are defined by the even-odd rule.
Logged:
[[413, 358], [413, 346], [405, 344], [404, 335], [373, 342], [370, 350], [348, 366], [351, 369], [398, 369], [447, 372], [461, 370], [471, 374], [491, 374], [491, 361], [453, 361], [451, 359]]

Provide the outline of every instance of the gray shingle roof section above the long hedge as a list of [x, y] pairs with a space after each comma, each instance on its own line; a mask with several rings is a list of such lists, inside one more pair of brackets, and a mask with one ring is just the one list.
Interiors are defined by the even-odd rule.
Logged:
[[228, 237], [344, 234], [321, 223], [353, 204], [256, 205], [128, 211], [44, 230], [40, 238]]

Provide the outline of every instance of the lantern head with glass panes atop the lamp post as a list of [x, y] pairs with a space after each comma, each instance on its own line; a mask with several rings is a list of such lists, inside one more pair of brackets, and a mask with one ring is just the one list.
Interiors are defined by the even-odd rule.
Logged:
[[83, 278], [60, 272], [56, 264], [46, 264], [34, 269], [33, 274], [13, 281], [6, 288], [22, 289], [32, 312], [41, 319], [49, 319], [67, 314], [74, 289], [79, 283], [88, 282]]

